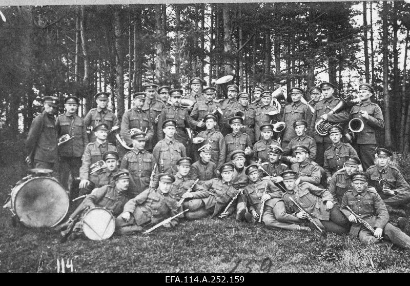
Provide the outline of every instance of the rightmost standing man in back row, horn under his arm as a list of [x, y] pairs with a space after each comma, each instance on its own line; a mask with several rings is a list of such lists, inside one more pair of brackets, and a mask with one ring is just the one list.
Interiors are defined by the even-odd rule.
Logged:
[[[348, 114], [348, 120], [359, 118], [364, 123], [362, 131], [355, 134], [355, 140], [352, 144], [359, 154], [359, 158], [363, 164], [363, 170], [374, 165], [376, 153], [376, 136], [375, 132], [384, 128], [384, 119], [380, 107], [370, 101], [373, 95], [373, 87], [369, 84], [359, 85], [360, 103], [355, 105]], [[347, 130], [346, 130], [347, 131]], [[345, 133], [347, 140], [352, 142], [352, 136]]]

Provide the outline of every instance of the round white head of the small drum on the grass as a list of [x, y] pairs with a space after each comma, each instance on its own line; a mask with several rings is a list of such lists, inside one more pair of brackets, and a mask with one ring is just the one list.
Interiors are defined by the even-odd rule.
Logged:
[[114, 233], [115, 219], [106, 209], [94, 208], [83, 216], [81, 227], [91, 240], [108, 239]]

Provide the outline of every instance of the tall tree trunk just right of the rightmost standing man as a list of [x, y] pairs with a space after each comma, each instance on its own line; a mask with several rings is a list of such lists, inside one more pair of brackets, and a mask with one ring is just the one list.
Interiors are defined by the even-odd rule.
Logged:
[[382, 22], [383, 22], [383, 98], [384, 98], [384, 136], [386, 147], [392, 146], [391, 126], [390, 126], [390, 97], [388, 95], [388, 29], [387, 29], [387, 2], [383, 2]]

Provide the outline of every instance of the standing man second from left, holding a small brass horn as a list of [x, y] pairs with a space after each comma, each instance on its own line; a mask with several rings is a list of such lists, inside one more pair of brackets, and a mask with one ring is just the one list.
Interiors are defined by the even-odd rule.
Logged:
[[81, 156], [88, 144], [87, 128], [83, 118], [77, 115], [78, 98], [69, 96], [64, 99], [66, 113], [61, 114], [55, 120], [57, 136], [68, 134], [71, 139], [58, 146], [60, 156], [60, 183], [68, 190], [68, 177], [71, 173], [72, 183], [70, 188], [70, 198], [78, 196], [79, 169], [81, 167]]

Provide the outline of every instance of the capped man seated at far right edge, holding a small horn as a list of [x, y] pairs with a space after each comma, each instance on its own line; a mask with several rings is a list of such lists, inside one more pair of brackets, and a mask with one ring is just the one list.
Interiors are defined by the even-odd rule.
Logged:
[[[393, 155], [392, 152], [384, 148], [377, 148], [376, 154], [378, 156], [377, 165], [369, 167], [366, 174], [387, 205], [387, 210], [390, 213], [398, 213], [404, 216], [403, 210], [395, 208], [405, 207], [407, 203], [410, 203], [410, 187], [399, 169], [389, 165]], [[380, 179], [387, 181], [384, 188], [379, 185]]]

